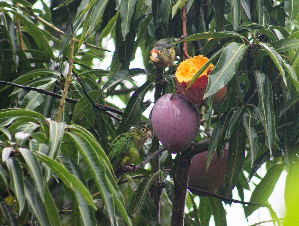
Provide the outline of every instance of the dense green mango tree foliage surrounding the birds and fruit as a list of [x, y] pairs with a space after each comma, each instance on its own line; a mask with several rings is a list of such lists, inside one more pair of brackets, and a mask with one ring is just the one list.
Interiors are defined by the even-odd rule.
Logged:
[[[230, 205], [233, 189], [241, 201], [249, 190], [250, 203], [242, 205], [245, 216], [268, 207], [275, 221], [267, 200], [287, 171], [285, 225], [295, 225], [298, 11], [297, 0], [1, 1], [0, 224], [176, 225], [171, 211], [184, 211], [185, 200], [177, 199], [186, 194], [180, 181], [188, 178], [188, 167], [180, 164], [190, 166], [194, 154], [208, 150], [208, 166], [229, 141], [226, 186], [218, 196]], [[180, 39], [184, 32], [187, 37]], [[103, 47], [107, 37], [113, 38], [114, 52]], [[227, 94], [220, 103], [206, 101], [199, 109], [205, 130], [175, 159], [154, 138], [135, 163], [157, 150], [162, 154], [147, 169], [115, 179], [106, 156], [111, 141], [141, 121], [151, 125], [150, 116], [142, 113], [176, 88], [176, 68], [167, 68], [161, 77], [149, 59], [153, 44], [168, 37], [178, 38], [178, 64], [185, 57], [184, 42], [190, 56], [210, 59], [192, 82], [215, 65], [207, 100], [225, 85]], [[130, 66], [138, 48], [146, 69]], [[94, 58], [107, 54], [113, 54], [112, 61], [98, 69]], [[146, 78], [140, 87], [132, 79], [136, 75]], [[144, 100], [150, 91], [155, 100]], [[107, 101], [114, 95], [124, 109]], [[264, 163], [262, 178], [257, 171]], [[261, 180], [250, 190], [253, 177]], [[187, 195], [184, 225], [208, 225], [212, 215], [215, 225], [226, 225], [221, 199], [200, 197], [198, 206], [194, 198]]]

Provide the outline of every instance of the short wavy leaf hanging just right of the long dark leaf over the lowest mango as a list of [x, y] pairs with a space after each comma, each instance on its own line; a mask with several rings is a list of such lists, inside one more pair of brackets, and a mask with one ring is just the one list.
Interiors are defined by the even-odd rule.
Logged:
[[256, 131], [251, 127], [251, 112], [249, 110], [247, 110], [243, 114], [243, 126], [246, 130], [246, 134], [250, 144], [252, 166], [257, 155], [258, 137]]

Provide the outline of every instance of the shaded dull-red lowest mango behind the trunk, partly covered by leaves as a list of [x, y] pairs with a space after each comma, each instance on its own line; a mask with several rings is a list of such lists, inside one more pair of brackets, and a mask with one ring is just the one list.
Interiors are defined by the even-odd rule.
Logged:
[[[223, 151], [223, 157], [220, 157], [220, 162], [216, 152], [213, 154], [208, 171], [206, 172], [207, 151], [196, 154], [192, 158], [189, 173], [188, 186], [215, 193], [219, 188], [225, 186], [225, 172], [228, 151]], [[202, 194], [189, 188], [195, 194], [202, 196]]]

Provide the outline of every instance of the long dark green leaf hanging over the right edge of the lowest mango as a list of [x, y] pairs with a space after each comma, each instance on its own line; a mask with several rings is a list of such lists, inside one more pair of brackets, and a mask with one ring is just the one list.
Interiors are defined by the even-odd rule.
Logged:
[[228, 147], [227, 166], [225, 173], [225, 190], [228, 196], [234, 189], [239, 179], [245, 161], [246, 132], [240, 122], [231, 134]]

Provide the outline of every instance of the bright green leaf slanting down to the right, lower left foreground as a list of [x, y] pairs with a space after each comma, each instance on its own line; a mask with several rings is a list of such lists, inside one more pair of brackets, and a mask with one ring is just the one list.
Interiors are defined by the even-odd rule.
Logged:
[[49, 158], [48, 156], [39, 153], [39, 152], [33, 152], [36, 157], [39, 158], [42, 162], [44, 162], [48, 167], [53, 170], [55, 174], [64, 182], [64, 184], [70, 188], [72, 191], [74, 191], [74, 188], [76, 188], [80, 194], [83, 196], [83, 198], [86, 200], [88, 205], [90, 205], [92, 208], [96, 209], [96, 206], [94, 204], [93, 198], [91, 194], [89, 193], [88, 189], [82, 184], [82, 182], [68, 172], [68, 170], [61, 165], [56, 160], [53, 160]]

